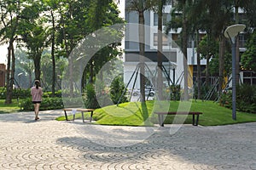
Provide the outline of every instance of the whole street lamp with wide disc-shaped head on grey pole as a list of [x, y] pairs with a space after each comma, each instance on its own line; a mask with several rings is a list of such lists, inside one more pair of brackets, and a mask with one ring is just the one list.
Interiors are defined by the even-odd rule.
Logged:
[[232, 43], [232, 118], [236, 120], [236, 38], [239, 32], [245, 29], [245, 25], [236, 24], [226, 28], [224, 37]]

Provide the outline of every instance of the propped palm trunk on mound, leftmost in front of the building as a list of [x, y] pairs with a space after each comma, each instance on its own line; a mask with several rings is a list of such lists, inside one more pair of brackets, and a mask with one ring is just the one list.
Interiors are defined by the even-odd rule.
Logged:
[[139, 65], [140, 65], [140, 94], [141, 101], [144, 103], [145, 99], [145, 30], [144, 30], [144, 13], [143, 11], [139, 12], [139, 48], [140, 48], [140, 56], [139, 56]]

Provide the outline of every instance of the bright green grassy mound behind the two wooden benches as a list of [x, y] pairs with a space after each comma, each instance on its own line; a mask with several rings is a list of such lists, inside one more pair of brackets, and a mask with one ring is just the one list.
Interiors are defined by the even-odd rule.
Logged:
[[[169, 111], [183, 110], [187, 105], [179, 101], [171, 101]], [[189, 105], [189, 103], [188, 103]], [[166, 107], [167, 108], [167, 107]], [[94, 112], [94, 120], [97, 124], [103, 125], [128, 125], [128, 126], [153, 126], [158, 123], [158, 117], [153, 114], [153, 111], [167, 111], [162, 105], [154, 105], [154, 101], [147, 101], [146, 105], [141, 105], [139, 102], [130, 102], [120, 104], [119, 106], [110, 105], [97, 109]], [[202, 126], [227, 125], [241, 122], [256, 122], [256, 114], [245, 112], [236, 112], [236, 121], [232, 119], [232, 111], [230, 109], [219, 106], [218, 103], [212, 101], [193, 101], [190, 111], [201, 111], [203, 114], [199, 118], [199, 124]], [[142, 114], [143, 113], [143, 114]], [[86, 116], [89, 116], [86, 115]], [[81, 114], [76, 115], [81, 118]], [[166, 116], [165, 123], [171, 124], [175, 116]], [[69, 117], [71, 119], [72, 116]], [[192, 116], [185, 116], [184, 123], [192, 123]], [[64, 116], [58, 117], [57, 120], [65, 120]]]

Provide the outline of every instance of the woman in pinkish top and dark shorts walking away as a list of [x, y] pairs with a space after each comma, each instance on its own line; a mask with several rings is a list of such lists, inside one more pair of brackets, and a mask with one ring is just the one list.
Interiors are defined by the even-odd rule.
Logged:
[[37, 121], [39, 119], [38, 117], [39, 107], [40, 107], [42, 96], [43, 96], [43, 89], [40, 88], [40, 82], [38, 80], [35, 81], [35, 86], [31, 88], [31, 94], [32, 94], [32, 103], [34, 104], [34, 108], [35, 108], [35, 120]]

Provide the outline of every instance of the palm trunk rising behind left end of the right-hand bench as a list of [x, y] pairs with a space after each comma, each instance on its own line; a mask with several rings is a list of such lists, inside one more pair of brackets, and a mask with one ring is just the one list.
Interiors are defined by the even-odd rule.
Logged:
[[163, 18], [163, 4], [162, 1], [159, 1], [158, 4], [158, 36], [157, 36], [157, 92], [158, 92], [158, 97], [160, 100], [163, 99], [163, 77], [162, 77], [162, 51], [163, 51], [163, 34], [162, 34], [162, 18]]

